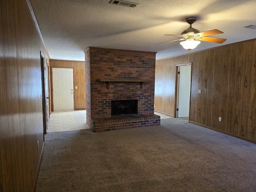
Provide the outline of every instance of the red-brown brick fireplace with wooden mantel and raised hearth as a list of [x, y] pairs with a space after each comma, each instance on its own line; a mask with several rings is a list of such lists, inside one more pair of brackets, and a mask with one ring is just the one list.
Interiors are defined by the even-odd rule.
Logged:
[[88, 47], [84, 53], [86, 119], [93, 132], [160, 125], [155, 52]]

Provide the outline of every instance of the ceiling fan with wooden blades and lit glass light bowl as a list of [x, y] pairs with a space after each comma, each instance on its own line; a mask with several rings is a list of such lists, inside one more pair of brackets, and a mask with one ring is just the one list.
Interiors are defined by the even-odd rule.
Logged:
[[[181, 35], [171, 35], [171, 36], [179, 36], [182, 37], [180, 39], [172, 40], [172, 41], [167, 41], [163, 43], [158, 43], [157, 45], [164, 44], [164, 43], [170, 43], [174, 41], [182, 41], [180, 44], [183, 46], [184, 49], [191, 50], [196, 48], [198, 44], [200, 44], [200, 41], [207, 41], [207, 42], [212, 42], [212, 43], [223, 43], [227, 39], [223, 38], [215, 38], [215, 37], [207, 37], [210, 35], [216, 35], [216, 34], [222, 34], [223, 32], [218, 30], [218, 29], [213, 29], [205, 32], [201, 32], [195, 28], [192, 28], [192, 24], [197, 20], [196, 17], [188, 17], [186, 18], [186, 22], [190, 24], [190, 27], [184, 30]], [[170, 35], [170, 34], [165, 34], [165, 35]]]

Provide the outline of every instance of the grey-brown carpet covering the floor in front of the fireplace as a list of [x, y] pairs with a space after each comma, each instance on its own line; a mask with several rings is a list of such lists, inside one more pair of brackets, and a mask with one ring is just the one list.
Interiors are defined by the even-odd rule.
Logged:
[[256, 144], [168, 118], [45, 137], [36, 192], [256, 192]]

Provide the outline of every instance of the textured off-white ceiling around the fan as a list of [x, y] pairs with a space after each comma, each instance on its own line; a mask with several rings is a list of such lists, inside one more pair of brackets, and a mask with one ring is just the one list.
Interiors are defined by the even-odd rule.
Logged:
[[[256, 38], [255, 0], [131, 0], [136, 8], [109, 4], [109, 0], [30, 0], [51, 59], [84, 61], [88, 46], [157, 52], [156, 59], [188, 51], [175, 40], [189, 27], [200, 32], [218, 29], [223, 44], [201, 42], [192, 51]], [[191, 52], [192, 52], [191, 51]]]

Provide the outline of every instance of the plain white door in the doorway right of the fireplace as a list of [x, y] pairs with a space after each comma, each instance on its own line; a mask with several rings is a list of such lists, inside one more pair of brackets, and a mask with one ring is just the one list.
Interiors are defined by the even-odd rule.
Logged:
[[191, 65], [179, 66], [177, 117], [189, 116]]

